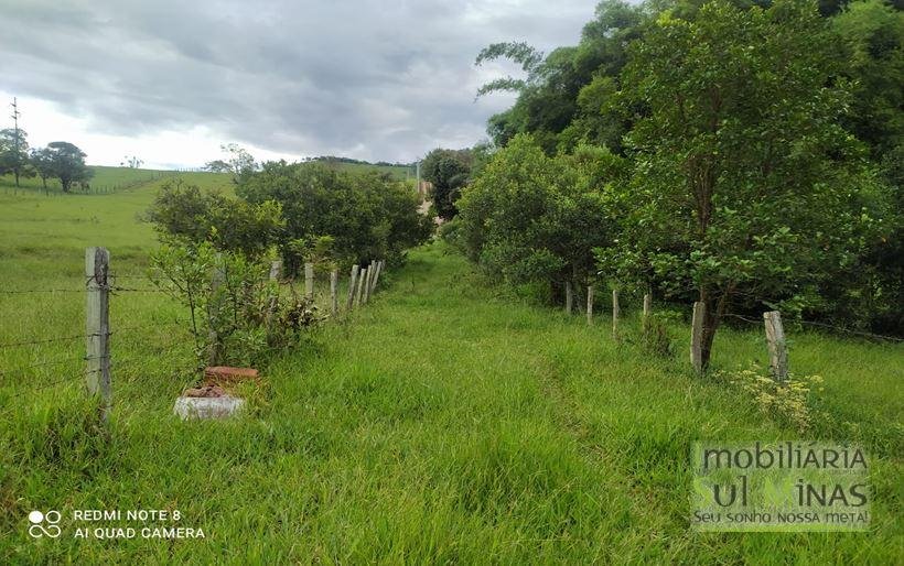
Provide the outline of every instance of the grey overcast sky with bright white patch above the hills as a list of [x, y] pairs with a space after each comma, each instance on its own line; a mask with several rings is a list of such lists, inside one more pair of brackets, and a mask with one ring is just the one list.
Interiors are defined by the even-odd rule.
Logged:
[[226, 142], [410, 162], [473, 144], [510, 105], [474, 101], [510, 70], [474, 67], [483, 46], [574, 44], [595, 3], [0, 0], [0, 97], [32, 145], [72, 141], [93, 164], [198, 166]]

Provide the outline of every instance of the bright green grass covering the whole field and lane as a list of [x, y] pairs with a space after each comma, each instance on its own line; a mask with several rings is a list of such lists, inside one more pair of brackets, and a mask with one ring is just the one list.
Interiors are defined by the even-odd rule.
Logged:
[[[108, 247], [118, 283], [138, 290], [111, 300], [106, 433], [80, 401], [79, 339], [0, 348], [0, 563], [900, 563], [904, 348], [792, 335], [794, 371], [826, 380], [830, 418], [812, 436], [871, 457], [871, 532], [697, 533], [693, 440], [799, 433], [691, 375], [680, 324], [674, 359], [652, 358], [632, 305], [618, 344], [606, 324], [488, 285], [439, 243], [273, 360], [250, 414], [176, 421], [191, 346], [184, 313], [142, 291], [154, 236], [137, 219], [160, 182], [0, 192], [0, 345], [84, 334], [87, 246]], [[54, 292], [3, 293], [31, 290]], [[765, 362], [761, 333], [720, 330], [714, 363]], [[31, 538], [32, 509], [63, 511], [64, 535]], [[179, 510], [206, 537], [76, 540], [77, 509]]]

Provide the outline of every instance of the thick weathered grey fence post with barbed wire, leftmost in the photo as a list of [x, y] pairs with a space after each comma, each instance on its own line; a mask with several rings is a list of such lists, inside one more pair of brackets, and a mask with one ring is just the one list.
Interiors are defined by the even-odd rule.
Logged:
[[104, 400], [101, 416], [106, 421], [112, 405], [110, 382], [110, 252], [106, 248], [85, 250], [85, 347], [87, 355], [86, 382], [88, 393]]

